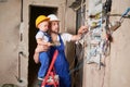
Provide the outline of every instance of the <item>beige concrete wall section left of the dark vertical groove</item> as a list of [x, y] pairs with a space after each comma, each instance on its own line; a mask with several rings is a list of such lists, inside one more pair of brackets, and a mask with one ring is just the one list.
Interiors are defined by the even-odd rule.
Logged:
[[0, 84], [16, 82], [20, 23], [21, 1], [0, 2]]

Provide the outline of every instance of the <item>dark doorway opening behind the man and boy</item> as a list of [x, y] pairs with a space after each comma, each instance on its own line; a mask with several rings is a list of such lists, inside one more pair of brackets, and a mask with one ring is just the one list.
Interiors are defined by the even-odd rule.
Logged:
[[35, 26], [35, 21], [38, 15], [49, 15], [56, 14], [57, 8], [50, 7], [39, 7], [39, 5], [29, 5], [29, 61], [28, 61], [28, 87], [37, 87], [37, 73], [40, 64], [36, 64], [34, 61], [34, 52], [37, 46], [36, 44], [36, 33], [38, 29]]

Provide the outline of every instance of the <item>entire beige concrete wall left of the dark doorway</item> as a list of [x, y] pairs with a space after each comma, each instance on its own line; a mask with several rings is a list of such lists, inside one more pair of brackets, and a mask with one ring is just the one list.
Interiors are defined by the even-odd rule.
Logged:
[[[0, 2], [0, 85], [27, 85], [28, 41], [25, 38], [23, 38], [23, 41], [20, 40], [20, 26], [21, 0]], [[24, 26], [22, 25], [22, 28], [25, 33], [27, 28]], [[20, 55], [18, 58], [20, 51], [24, 53], [24, 57]], [[23, 83], [17, 82], [20, 76]]]

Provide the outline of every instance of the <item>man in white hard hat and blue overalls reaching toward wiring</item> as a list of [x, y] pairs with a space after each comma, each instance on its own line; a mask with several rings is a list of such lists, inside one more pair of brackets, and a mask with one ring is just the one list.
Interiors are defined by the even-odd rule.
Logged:
[[[60, 20], [57, 18], [56, 15], [50, 14], [48, 17], [50, 17], [50, 36], [53, 42], [60, 42], [60, 46], [54, 46], [54, 47], [48, 47], [43, 46], [43, 48], [37, 47], [34, 55], [34, 60], [36, 63], [39, 62], [38, 55], [39, 52], [41, 51], [47, 51], [49, 48], [51, 50], [51, 54], [53, 55], [53, 52], [55, 50], [58, 50], [58, 54], [56, 58], [56, 61], [54, 63], [55, 72], [60, 76], [60, 87], [70, 87], [72, 82], [70, 82], [70, 76], [69, 76], [69, 64], [66, 60], [65, 57], [65, 45], [66, 41], [77, 41], [81, 38], [82, 34], [88, 32], [87, 26], [81, 26], [78, 30], [77, 35], [72, 35], [68, 33], [63, 33], [60, 34]], [[52, 57], [50, 57], [52, 58]]]

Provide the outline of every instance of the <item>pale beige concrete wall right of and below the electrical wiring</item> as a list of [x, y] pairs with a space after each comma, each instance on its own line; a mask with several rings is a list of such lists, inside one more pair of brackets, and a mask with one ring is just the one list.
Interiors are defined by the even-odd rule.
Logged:
[[[130, 0], [113, 0], [112, 14], [121, 14], [130, 7]], [[110, 22], [119, 21], [110, 16]], [[105, 58], [105, 67], [98, 70], [95, 64], [84, 63], [83, 87], [130, 87], [130, 18], [113, 33], [110, 55]]]

